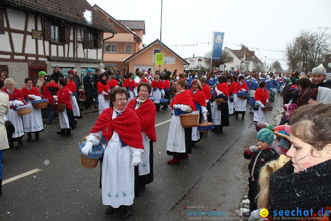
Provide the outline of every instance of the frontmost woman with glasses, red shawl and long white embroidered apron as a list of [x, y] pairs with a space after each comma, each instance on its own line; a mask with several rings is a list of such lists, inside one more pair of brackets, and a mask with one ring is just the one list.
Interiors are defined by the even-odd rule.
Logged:
[[125, 88], [111, 90], [111, 107], [100, 114], [81, 149], [87, 156], [92, 145], [100, 144], [102, 138], [105, 141], [101, 144], [105, 149], [101, 164], [102, 203], [108, 205], [106, 214], [114, 213], [123, 205], [123, 219], [130, 216], [133, 198], [139, 196], [139, 185], [135, 185], [139, 179], [138, 168], [134, 166], [141, 163], [140, 155], [144, 152], [139, 118], [132, 109], [126, 108], [127, 98]]

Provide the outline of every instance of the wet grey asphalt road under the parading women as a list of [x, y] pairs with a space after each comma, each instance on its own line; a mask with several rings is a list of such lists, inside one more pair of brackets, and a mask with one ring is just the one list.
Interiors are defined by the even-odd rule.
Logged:
[[[275, 108], [269, 112], [271, 123], [277, 125], [280, 99], [277, 94]], [[39, 171], [3, 185], [0, 220], [122, 220], [120, 211], [104, 213], [107, 206], [102, 204], [99, 189], [99, 165], [94, 169], [80, 165], [78, 143], [89, 134], [97, 117], [97, 113], [85, 115], [66, 138], [56, 135], [59, 123], [45, 125], [39, 141], [26, 142], [25, 136], [23, 149], [5, 151], [4, 181]], [[161, 110], [156, 125], [170, 119], [170, 110]], [[213, 207], [226, 211], [225, 218], [235, 217], [231, 212], [247, 192], [248, 162], [242, 153], [256, 143], [253, 114], [247, 111], [244, 121], [230, 116], [224, 133], [204, 135], [190, 157], [176, 165], [166, 163], [171, 159], [166, 154], [169, 125], [156, 127], [154, 181], [134, 200], [130, 220], [187, 220], [191, 216], [183, 207], [188, 206], [207, 211]]]

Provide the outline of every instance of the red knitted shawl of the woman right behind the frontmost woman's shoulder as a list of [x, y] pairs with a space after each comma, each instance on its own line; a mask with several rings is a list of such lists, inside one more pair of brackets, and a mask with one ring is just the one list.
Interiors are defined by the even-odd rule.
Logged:
[[140, 128], [146, 135], [156, 142], [156, 131], [155, 131], [155, 116], [156, 109], [153, 101], [147, 98], [144, 103], [140, 104], [138, 109], [134, 109], [137, 104], [137, 98], [129, 101], [127, 107], [132, 109], [138, 116], [140, 122]]

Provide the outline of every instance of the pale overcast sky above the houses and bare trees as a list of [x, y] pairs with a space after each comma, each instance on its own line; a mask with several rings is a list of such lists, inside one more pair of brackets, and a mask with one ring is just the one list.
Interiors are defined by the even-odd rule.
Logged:
[[[144, 44], [160, 39], [161, 0], [87, 1], [115, 19], [144, 20]], [[164, 0], [162, 42], [167, 46], [211, 42], [213, 31], [219, 31], [225, 32], [223, 48], [237, 50], [236, 45], [244, 44], [262, 62], [264, 56], [285, 59], [283, 52], [269, 50], [283, 51], [301, 29], [330, 27], [330, 11], [331, 0]], [[211, 44], [169, 47], [182, 58], [204, 56], [212, 50]], [[287, 69], [286, 61], [280, 62]]]

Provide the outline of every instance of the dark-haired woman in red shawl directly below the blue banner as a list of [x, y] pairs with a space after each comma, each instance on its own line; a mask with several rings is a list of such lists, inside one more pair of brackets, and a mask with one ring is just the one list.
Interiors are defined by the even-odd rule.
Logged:
[[[230, 92], [228, 85], [226, 83], [225, 76], [221, 75], [218, 77], [218, 85], [215, 87], [215, 96], [220, 96], [223, 94], [225, 97], [229, 97]], [[214, 129], [213, 132], [222, 133], [223, 127], [229, 126], [229, 107], [228, 103], [218, 103], [214, 102], [212, 108], [212, 115], [213, 115], [213, 125]]]

